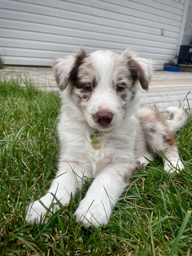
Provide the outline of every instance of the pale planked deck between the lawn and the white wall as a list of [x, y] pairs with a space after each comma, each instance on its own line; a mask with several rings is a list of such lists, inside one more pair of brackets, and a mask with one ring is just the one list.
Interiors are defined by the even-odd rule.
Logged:
[[[42, 90], [58, 90], [51, 68], [4, 66], [0, 70], [0, 78], [22, 77], [31, 79], [34, 85]], [[192, 72], [156, 71], [151, 80], [149, 91], [140, 89], [143, 102], [156, 104], [163, 110], [170, 106], [179, 107], [181, 104], [192, 108]], [[187, 98], [186, 98], [187, 96]]]

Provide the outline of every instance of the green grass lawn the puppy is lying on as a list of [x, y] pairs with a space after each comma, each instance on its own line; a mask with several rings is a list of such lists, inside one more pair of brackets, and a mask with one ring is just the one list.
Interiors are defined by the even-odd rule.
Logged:
[[26, 206], [45, 194], [57, 169], [59, 107], [56, 92], [0, 81], [0, 255], [190, 256], [191, 115], [177, 133], [185, 170], [169, 175], [157, 158], [135, 171], [107, 227], [84, 228], [73, 218], [91, 181], [44, 226], [25, 223]]

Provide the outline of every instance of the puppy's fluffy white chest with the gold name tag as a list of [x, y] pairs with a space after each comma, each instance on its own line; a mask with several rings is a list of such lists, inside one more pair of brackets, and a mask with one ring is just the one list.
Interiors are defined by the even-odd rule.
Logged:
[[129, 130], [118, 129], [95, 136], [90, 127], [62, 118], [58, 124], [61, 153], [66, 159], [95, 163], [128, 158], [134, 149], [134, 132]]

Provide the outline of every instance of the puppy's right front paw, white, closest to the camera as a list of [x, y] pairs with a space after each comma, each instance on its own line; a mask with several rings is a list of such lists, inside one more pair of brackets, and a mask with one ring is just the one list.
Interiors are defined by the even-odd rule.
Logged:
[[87, 200], [84, 198], [74, 213], [78, 222], [82, 222], [85, 227], [99, 227], [107, 224], [111, 215], [111, 205], [105, 205], [97, 199]]

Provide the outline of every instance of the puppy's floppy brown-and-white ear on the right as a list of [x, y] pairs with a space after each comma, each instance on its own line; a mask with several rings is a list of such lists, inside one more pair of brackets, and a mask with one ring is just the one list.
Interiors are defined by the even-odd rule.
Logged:
[[139, 58], [137, 57], [136, 53], [130, 51], [129, 49], [124, 51], [122, 57], [127, 61], [133, 83], [138, 80], [141, 84], [141, 87], [147, 91], [151, 77], [154, 73], [151, 60]]

